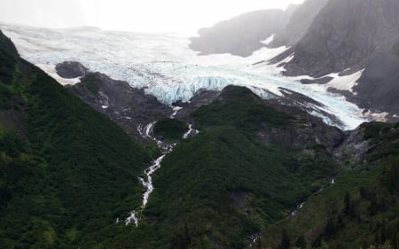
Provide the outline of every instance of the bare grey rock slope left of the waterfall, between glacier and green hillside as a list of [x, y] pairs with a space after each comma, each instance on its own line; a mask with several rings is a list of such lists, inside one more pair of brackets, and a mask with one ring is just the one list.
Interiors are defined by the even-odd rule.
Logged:
[[146, 95], [143, 89], [132, 88], [129, 83], [113, 80], [106, 74], [89, 73], [81, 81], [66, 88], [138, 139], [142, 139], [138, 126], [168, 118], [172, 114], [168, 105]]

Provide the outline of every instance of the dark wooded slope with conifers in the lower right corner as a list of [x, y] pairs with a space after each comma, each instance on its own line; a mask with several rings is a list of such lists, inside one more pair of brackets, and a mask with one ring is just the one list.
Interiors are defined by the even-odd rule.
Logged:
[[330, 248], [399, 248], [399, 125], [366, 123], [358, 131], [370, 149], [352, 159], [356, 169], [341, 172], [297, 214], [265, 230], [256, 246], [278, 248], [286, 233], [300, 248], [322, 241]]

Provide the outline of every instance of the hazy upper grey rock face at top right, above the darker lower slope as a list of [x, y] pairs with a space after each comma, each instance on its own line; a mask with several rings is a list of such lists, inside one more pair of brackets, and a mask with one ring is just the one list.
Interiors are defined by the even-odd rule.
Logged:
[[329, 1], [296, 45], [286, 74], [319, 77], [364, 67], [397, 40], [398, 12], [399, 2], [391, 0]]

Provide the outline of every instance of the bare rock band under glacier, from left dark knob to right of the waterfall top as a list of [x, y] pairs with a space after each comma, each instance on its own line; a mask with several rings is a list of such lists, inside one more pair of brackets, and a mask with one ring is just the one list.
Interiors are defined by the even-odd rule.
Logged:
[[[56, 70], [63, 78], [80, 77], [81, 82], [66, 85], [66, 88], [139, 140], [147, 140], [140, 127], [175, 115], [177, 119], [189, 122], [193, 110], [207, 105], [219, 95], [218, 91], [202, 90], [189, 103], [178, 102], [169, 106], [145, 94], [144, 89], [133, 88], [128, 82], [113, 80], [106, 74], [90, 72], [76, 61], [60, 63]], [[176, 106], [180, 107], [178, 113]]]

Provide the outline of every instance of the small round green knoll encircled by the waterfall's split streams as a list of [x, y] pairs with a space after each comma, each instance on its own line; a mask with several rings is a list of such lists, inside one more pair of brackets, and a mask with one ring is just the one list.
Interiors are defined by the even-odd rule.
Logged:
[[187, 131], [187, 124], [184, 123], [184, 121], [178, 121], [175, 119], [157, 121], [153, 127], [155, 136], [160, 136], [168, 142], [181, 140], [184, 133]]

